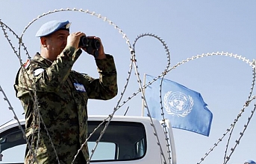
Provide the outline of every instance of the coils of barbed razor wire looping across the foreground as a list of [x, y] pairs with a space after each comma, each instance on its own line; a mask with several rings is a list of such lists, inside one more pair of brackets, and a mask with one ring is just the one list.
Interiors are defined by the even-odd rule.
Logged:
[[[149, 86], [149, 85], [151, 85], [153, 82], [155, 82], [157, 79], [159, 79], [159, 78], [163, 79], [163, 77], [166, 75], [166, 73], [169, 73], [170, 70], [173, 70], [173, 69], [177, 68], [178, 66], [183, 65], [183, 64], [186, 63], [186, 62], [190, 62], [190, 61], [192, 61], [193, 59], [199, 59], [199, 58], [206, 57], [206, 56], [231, 56], [231, 57], [240, 59], [240, 60], [242, 60], [243, 62], [246, 62], [247, 64], [249, 64], [250, 66], [252, 66], [252, 68], [255, 69], [255, 62], [252, 62], [252, 61], [250, 61], [249, 59], [246, 59], [246, 58], [243, 57], [243, 56], [238, 56], [237, 54], [233, 54], [233, 53], [223, 53], [223, 52], [222, 52], [222, 53], [219, 53], [219, 52], [217, 52], [217, 53], [203, 53], [202, 55], [192, 56], [191, 58], [188, 58], [188, 59], [182, 60], [181, 62], [178, 62], [178, 64], [174, 65], [172, 68], [169, 68], [169, 65], [170, 65], [170, 58], [168, 57], [168, 56], [169, 56], [169, 49], [168, 49], [168, 47], [166, 46], [165, 42], [163, 42], [163, 40], [160, 39], [158, 36], [156, 36], [156, 35], [154, 35], [154, 34], [152, 34], [152, 33], [145, 33], [145, 34], [142, 34], [142, 35], [140, 35], [140, 36], [137, 36], [137, 39], [135, 39], [135, 41], [134, 41], [134, 47], [131, 47], [130, 41], [129, 41], [128, 37], [126, 36], [126, 34], [125, 34], [118, 26], [116, 26], [116, 24], [113, 24], [113, 22], [111, 22], [109, 19], [107, 19], [106, 17], [103, 17], [103, 16], [101, 16], [100, 14], [97, 14], [97, 13], [95, 13], [95, 12], [90, 12], [89, 10], [82, 10], [82, 9], [78, 10], [78, 9], [75, 9], [75, 8], [74, 8], [74, 9], [69, 9], [69, 8], [67, 8], [67, 9], [60, 9], [60, 10], [49, 11], [48, 13], [43, 13], [42, 15], [38, 16], [36, 19], [33, 19], [32, 22], [29, 22], [29, 24], [28, 24], [28, 25], [25, 27], [25, 29], [23, 30], [21, 37], [17, 36], [16, 33], [14, 33], [14, 31], [11, 30], [10, 27], [7, 27], [6, 24], [4, 24], [3, 22], [1, 22], [1, 19], [0, 19], [0, 24], [1, 24], [2, 30], [4, 31], [4, 36], [7, 38], [8, 42], [9, 42], [10, 46], [12, 47], [12, 49], [13, 49], [14, 53], [16, 54], [16, 56], [18, 56], [21, 65], [22, 65], [22, 59], [20, 58], [20, 50], [21, 50], [20, 47], [21, 47], [21, 46], [24, 47], [24, 50], [25, 50], [25, 52], [26, 52], [26, 55], [27, 55], [28, 58], [30, 59], [30, 56], [29, 56], [28, 51], [27, 51], [27, 48], [25, 47], [24, 43], [22, 43], [22, 36], [24, 36], [25, 31], [28, 30], [28, 27], [30, 27], [31, 24], [33, 24], [35, 21], [37, 21], [37, 19], [40, 19], [40, 18], [42, 18], [43, 16], [47, 16], [47, 15], [49, 15], [49, 14], [51, 14], [51, 13], [62, 12], [62, 11], [78, 11], [78, 12], [82, 12], [82, 13], [88, 13], [88, 14], [90, 14], [90, 15], [92, 15], [92, 16], [98, 17], [99, 19], [103, 19], [104, 22], [108, 22], [110, 25], [113, 25], [113, 27], [114, 27], [115, 29], [119, 30], [119, 33], [122, 35], [123, 39], [125, 39], [126, 44], [128, 45], [129, 50], [130, 50], [130, 53], [131, 53], [131, 65], [129, 66], [128, 78], [126, 79], [126, 83], [125, 83], [124, 89], [123, 89], [123, 91], [121, 92], [121, 95], [120, 95], [119, 100], [117, 101], [116, 107], [113, 108], [113, 113], [110, 114], [106, 119], [104, 119], [103, 122], [106, 122], [107, 120], [108, 120], [108, 121], [107, 121], [107, 123], [106, 123], [104, 129], [103, 129], [102, 132], [101, 132], [101, 135], [100, 135], [100, 137], [99, 137], [99, 140], [96, 141], [96, 146], [95, 146], [95, 148], [93, 148], [92, 154], [91, 154], [91, 156], [90, 156], [90, 159], [87, 161], [87, 163], [90, 163], [91, 157], [93, 157], [93, 153], [95, 152], [96, 147], [97, 147], [97, 145], [98, 145], [100, 139], [102, 138], [102, 135], [103, 135], [104, 132], [106, 131], [107, 125], [109, 124], [109, 122], [110, 122], [111, 119], [113, 118], [113, 115], [115, 114], [115, 112], [116, 112], [119, 108], [121, 108], [122, 105], [125, 105], [126, 102], [130, 101], [134, 96], [137, 96], [137, 94], [139, 94], [140, 92], [142, 92], [142, 93], [141, 93], [141, 94], [142, 94], [142, 99], [144, 99], [144, 101], [145, 101], [145, 107], [146, 107], [147, 110], [148, 110], [148, 116], [150, 117], [151, 122], [152, 122], [152, 117], [151, 117], [151, 114], [150, 114], [150, 112], [149, 112], [149, 108], [148, 108], [148, 105], [147, 105], [147, 103], [146, 103], [146, 97], [145, 97], [145, 95], [144, 95], [144, 93], [143, 93], [143, 90], [146, 89], [147, 86]], [[13, 33], [13, 35], [16, 36], [16, 39], [19, 39], [19, 53], [17, 53], [17, 51], [15, 50], [15, 47], [13, 47], [12, 43], [10, 42], [10, 39], [8, 38], [7, 33], [5, 32], [4, 27], [7, 27], [7, 29], [9, 29], [9, 30]], [[137, 59], [136, 59], [136, 56], [135, 56], [135, 43], [137, 42], [138, 39], [140, 39], [140, 38], [142, 38], [142, 37], [144, 37], [144, 36], [152, 36], [152, 37], [154, 37], [154, 38], [160, 40], [160, 42], [162, 42], [163, 47], [165, 47], [165, 49], [166, 49], [167, 62], [168, 62], [168, 63], [167, 63], [167, 66], [166, 66], [166, 69], [163, 71], [163, 73], [160, 73], [160, 75], [157, 76], [156, 79], [152, 80], [152, 82], [149, 82], [147, 85], [142, 85], [142, 82], [141, 82], [141, 79], [140, 79], [140, 73], [139, 73], [139, 71], [138, 71], [138, 66], [137, 66]], [[139, 87], [139, 89], [138, 89], [137, 92], [134, 92], [134, 94], [132, 94], [131, 96], [128, 96], [128, 98], [127, 98], [125, 101], [123, 101], [123, 102], [121, 103], [122, 98], [123, 98], [123, 95], [124, 95], [124, 93], [125, 93], [125, 91], [126, 91], [126, 89], [127, 89], [127, 87], [128, 87], [128, 82], [129, 82], [130, 77], [131, 77], [131, 70], [132, 70], [132, 68], [133, 68], [133, 65], [134, 65], [134, 69], [135, 69], [136, 76], [137, 76], [137, 82], [139, 83], [139, 86], [140, 86], [140, 87]], [[249, 97], [252, 96], [252, 91], [253, 91], [254, 85], [255, 85], [255, 73], [254, 73], [254, 79], [253, 79], [253, 82], [252, 82], [252, 88], [251, 88]], [[160, 87], [160, 88], [161, 88], [161, 87]], [[1, 89], [0, 91], [3, 92], [2, 89]], [[160, 93], [161, 93], [161, 91], [160, 91]], [[4, 94], [4, 92], [3, 92], [3, 94]], [[37, 97], [36, 95], [34, 95], [34, 96]], [[7, 98], [6, 98], [6, 99], [7, 99]], [[161, 96], [160, 96], [160, 99], [161, 99]], [[255, 99], [255, 96], [253, 96], [252, 99], [249, 99], [250, 101], [247, 101], [247, 102], [246, 102], [246, 107], [249, 105], [249, 104], [247, 104], [247, 103], [252, 102], [253, 99]], [[9, 102], [9, 101], [8, 101], [8, 102]], [[37, 103], [36, 103], [36, 104], [37, 104]], [[161, 101], [161, 100], [160, 100], [160, 105], [161, 105], [161, 110], [162, 110], [162, 114], [163, 114], [163, 105], [162, 105], [162, 101]], [[246, 107], [245, 107], [245, 108], [246, 108]], [[35, 108], [37, 108], [37, 107], [35, 107]], [[13, 111], [13, 109], [12, 109], [12, 111]], [[244, 108], [243, 108], [242, 111], [244, 111]], [[253, 115], [254, 111], [255, 111], [255, 109], [252, 111], [252, 115]], [[243, 112], [242, 112], [242, 113], [243, 113]], [[15, 111], [13, 111], [13, 114], [14, 114], [14, 116], [16, 116]], [[251, 117], [249, 117], [250, 119], [252, 118], [252, 115], [251, 115]], [[163, 116], [163, 120], [164, 120], [164, 119], [165, 119], [165, 118], [164, 118], [164, 115], [162, 115], [162, 116]], [[239, 114], [238, 116], [240, 117], [240, 114]], [[236, 122], [237, 122], [237, 120], [238, 120], [239, 117], [237, 117], [237, 119], [235, 119]], [[16, 118], [16, 119], [17, 119], [17, 118]], [[42, 119], [42, 118], [41, 118], [41, 119]], [[19, 122], [19, 119], [17, 119], [17, 121]], [[19, 123], [20, 123], [20, 122], [19, 122]], [[249, 121], [246, 123], [246, 127], [247, 127], [248, 124], [249, 124]], [[43, 125], [44, 125], [44, 122], [43, 122]], [[100, 125], [102, 125], [102, 124], [100, 124]], [[100, 126], [100, 125], [99, 125], [99, 126]], [[231, 128], [234, 128], [234, 125], [235, 125], [235, 124], [231, 125]], [[97, 128], [99, 128], [99, 126], [98, 126]], [[45, 128], [46, 128], [46, 127], [45, 127]], [[96, 128], [96, 129], [97, 129], [97, 128]], [[157, 133], [156, 133], [156, 129], [155, 129], [155, 126], [154, 126], [154, 123], [153, 123], [153, 122], [152, 122], [152, 128], [154, 129], [154, 135], [157, 137], [157, 144], [160, 145], [160, 142], [159, 142], [159, 139], [158, 139], [158, 136], [157, 136]], [[229, 128], [229, 129], [231, 129], [231, 128]], [[47, 128], [46, 128], [46, 129], [47, 129]], [[93, 131], [93, 133], [96, 131], [96, 129]], [[246, 128], [243, 129], [243, 133], [244, 133], [245, 130], [246, 130]], [[166, 132], [166, 129], [165, 129], [164, 131]], [[229, 130], [229, 131], [230, 131], [230, 130]], [[23, 135], [24, 135], [24, 131], [22, 131], [22, 133], [23, 133]], [[92, 133], [92, 134], [93, 134], [93, 133]], [[228, 133], [228, 130], [227, 130], [227, 133]], [[47, 134], [48, 134], [48, 132], [47, 132]], [[90, 134], [89, 137], [90, 137], [92, 134]], [[50, 135], [49, 135], [49, 136], [50, 136]], [[224, 135], [224, 136], [225, 136], [225, 135]], [[224, 137], [224, 136], [223, 136], [223, 137]], [[87, 138], [87, 140], [89, 139], [89, 137]], [[222, 138], [223, 138], [223, 137], [222, 137]], [[240, 136], [240, 138], [237, 140], [237, 142], [240, 142], [240, 139], [241, 139], [242, 137], [243, 137], [243, 135]], [[219, 139], [219, 141], [218, 141], [216, 144], [214, 144], [214, 147], [213, 147], [213, 148], [215, 148], [216, 145], [218, 145], [218, 143], [222, 140], [222, 138]], [[81, 145], [81, 148], [87, 143], [87, 140], [84, 142], [83, 145]], [[166, 140], [167, 140], [167, 137], [166, 137]], [[26, 141], [28, 142], [27, 139], [26, 139]], [[168, 142], [168, 141], [167, 141], [167, 142]], [[52, 142], [51, 142], [51, 145], [54, 147], [54, 145], [52, 144]], [[168, 145], [168, 144], [167, 144], [167, 145]], [[238, 143], [234, 146], [234, 148], [231, 149], [231, 154], [233, 154], [234, 149], [237, 147], [237, 145], [238, 145]], [[81, 148], [78, 150], [78, 152], [81, 151]], [[213, 148], [211, 148], [210, 151], [212, 151]], [[164, 157], [163, 150], [161, 150], [161, 146], [160, 146], [160, 153], [162, 154], [163, 159], [165, 160], [164, 163], [166, 163], [166, 159], [165, 159], [165, 157]], [[229, 158], [231, 157], [231, 154], [227, 157], [227, 159], [229, 159]], [[207, 154], [207, 155], [208, 155], [208, 154]], [[207, 155], [206, 155], [205, 157], [207, 157]], [[75, 157], [76, 157], [76, 156], [75, 156]], [[200, 161], [200, 163], [202, 163], [202, 161], [205, 160], [205, 157], [202, 158], [202, 160]], [[170, 157], [170, 154], [169, 154], [169, 163], [170, 163], [170, 158], [171, 158], [171, 157]], [[74, 160], [75, 160], [75, 158], [74, 158]], [[227, 161], [227, 162], [228, 162], [228, 161]]]

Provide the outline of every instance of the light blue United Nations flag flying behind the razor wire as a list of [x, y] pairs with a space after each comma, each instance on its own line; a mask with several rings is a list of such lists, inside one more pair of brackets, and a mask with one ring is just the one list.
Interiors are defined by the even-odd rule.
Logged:
[[[156, 78], [146, 75], [146, 84], [152, 82], [153, 79]], [[150, 114], [158, 120], [163, 119], [160, 109], [160, 82], [161, 79], [157, 79], [145, 90]], [[172, 128], [180, 128], [209, 136], [213, 114], [206, 107], [207, 104], [202, 99], [201, 94], [177, 82], [163, 79], [161, 96], [164, 117], [170, 120]], [[144, 114], [147, 114], [146, 110]]]

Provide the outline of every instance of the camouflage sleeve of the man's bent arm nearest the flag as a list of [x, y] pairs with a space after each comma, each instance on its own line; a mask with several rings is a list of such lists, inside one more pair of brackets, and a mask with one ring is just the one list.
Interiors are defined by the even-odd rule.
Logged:
[[113, 56], [107, 54], [106, 56], [106, 59], [96, 59], [99, 79], [83, 75], [82, 83], [90, 99], [112, 99], [117, 94], [116, 66]]

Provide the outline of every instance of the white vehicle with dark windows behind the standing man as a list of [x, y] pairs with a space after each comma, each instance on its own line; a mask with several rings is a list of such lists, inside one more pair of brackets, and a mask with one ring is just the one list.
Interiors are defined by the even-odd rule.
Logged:
[[[90, 116], [88, 119], [88, 136], [102, 123], [106, 117]], [[24, 129], [25, 120], [20, 121]], [[88, 140], [89, 151], [93, 150], [96, 140], [105, 127], [103, 123]], [[169, 127], [171, 127], [169, 125]], [[167, 130], [168, 130], [167, 125]], [[169, 134], [169, 135], [168, 135]], [[117, 163], [173, 163], [175, 164], [174, 143], [168, 144], [166, 138], [173, 139], [172, 129], [165, 135], [163, 126], [156, 119], [149, 117], [115, 116], [107, 126], [106, 131], [96, 147], [90, 163], [113, 164]], [[158, 143], [159, 141], [159, 143]], [[25, 139], [17, 121], [8, 122], [0, 127], [0, 163], [23, 163], [25, 154]], [[18, 152], [15, 147], [23, 145]], [[166, 146], [167, 145], [167, 146]], [[13, 149], [14, 148], [14, 149]], [[7, 151], [12, 150], [12, 152]], [[169, 151], [172, 149], [172, 162], [169, 160]], [[162, 153], [161, 153], [162, 152]], [[23, 154], [22, 159], [15, 161], [13, 154]], [[7, 155], [13, 156], [7, 161]]]

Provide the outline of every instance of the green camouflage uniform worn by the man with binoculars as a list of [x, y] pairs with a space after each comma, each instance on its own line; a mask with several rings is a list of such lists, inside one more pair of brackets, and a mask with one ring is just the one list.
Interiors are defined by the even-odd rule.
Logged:
[[[32, 149], [37, 149], [39, 163], [57, 163], [43, 122], [60, 163], [72, 163], [81, 144], [87, 139], [87, 99], [111, 99], [117, 94], [113, 56], [96, 59], [99, 79], [93, 79], [71, 70], [81, 52], [80, 49], [75, 51], [74, 47], [66, 47], [52, 64], [37, 53], [16, 76], [14, 88], [25, 109], [26, 136]], [[33, 88], [37, 99], [34, 99]], [[40, 119], [33, 120], [37, 104], [43, 122]], [[86, 163], [88, 156], [85, 145], [75, 163]], [[36, 163], [31, 162], [31, 159], [33, 156], [27, 147], [25, 163]]]

